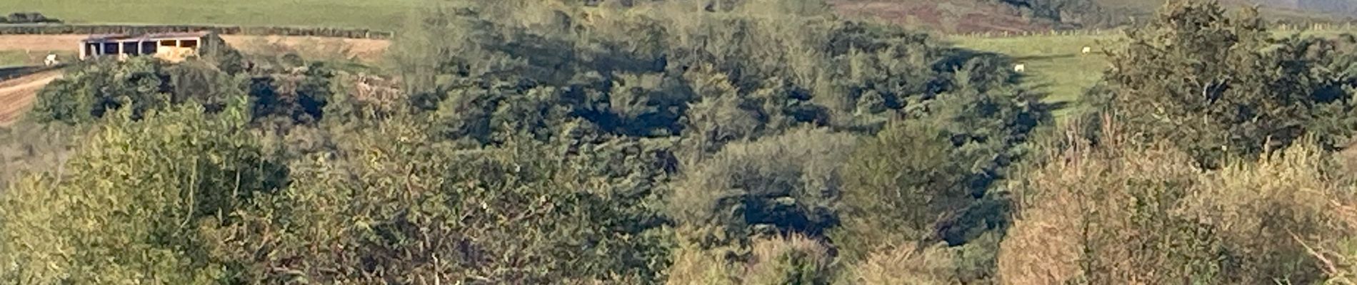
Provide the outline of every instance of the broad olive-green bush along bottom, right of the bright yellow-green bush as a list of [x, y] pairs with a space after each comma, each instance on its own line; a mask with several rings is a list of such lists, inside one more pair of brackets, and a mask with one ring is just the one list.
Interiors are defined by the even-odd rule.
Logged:
[[364, 124], [335, 142], [354, 157], [296, 161], [292, 186], [212, 232], [213, 257], [248, 261], [239, 282], [653, 284], [668, 266], [650, 151], [455, 149], [408, 115]]

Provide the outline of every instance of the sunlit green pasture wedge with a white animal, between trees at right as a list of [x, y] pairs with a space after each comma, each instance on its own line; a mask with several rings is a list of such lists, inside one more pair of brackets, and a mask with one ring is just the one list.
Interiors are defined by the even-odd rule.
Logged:
[[[1048, 103], [1065, 107], [1054, 112], [1064, 118], [1082, 109], [1080, 97], [1090, 86], [1102, 80], [1107, 58], [1101, 49], [1114, 45], [1113, 35], [1037, 35], [1012, 38], [953, 38], [961, 47], [982, 50], [1012, 57], [1026, 65], [1026, 85], [1044, 92]], [[1083, 54], [1084, 46], [1094, 53]]]

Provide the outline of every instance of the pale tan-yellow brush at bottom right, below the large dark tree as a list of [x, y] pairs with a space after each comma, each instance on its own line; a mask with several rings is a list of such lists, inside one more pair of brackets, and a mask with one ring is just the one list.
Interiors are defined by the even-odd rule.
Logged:
[[1357, 234], [1329, 211], [1350, 185], [1311, 145], [1216, 172], [1174, 149], [1073, 143], [1019, 181], [1022, 211], [1001, 244], [1004, 284], [1307, 284], [1326, 278], [1300, 238]]

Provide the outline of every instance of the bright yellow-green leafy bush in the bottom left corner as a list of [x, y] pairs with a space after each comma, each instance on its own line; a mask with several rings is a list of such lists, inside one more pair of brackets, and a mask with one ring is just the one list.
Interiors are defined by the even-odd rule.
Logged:
[[[243, 105], [235, 103], [235, 111]], [[242, 116], [178, 108], [122, 112], [54, 173], [0, 196], [0, 280], [31, 284], [202, 284], [224, 270], [204, 253], [201, 222], [267, 190], [269, 165]]]

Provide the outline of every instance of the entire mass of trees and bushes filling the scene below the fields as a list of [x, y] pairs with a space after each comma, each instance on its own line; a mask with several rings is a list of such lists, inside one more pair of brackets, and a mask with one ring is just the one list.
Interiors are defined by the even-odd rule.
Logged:
[[1354, 274], [1350, 36], [1174, 4], [1053, 126], [1008, 58], [814, 0], [452, 1], [398, 35], [379, 69], [77, 63], [0, 132], [0, 281]]

